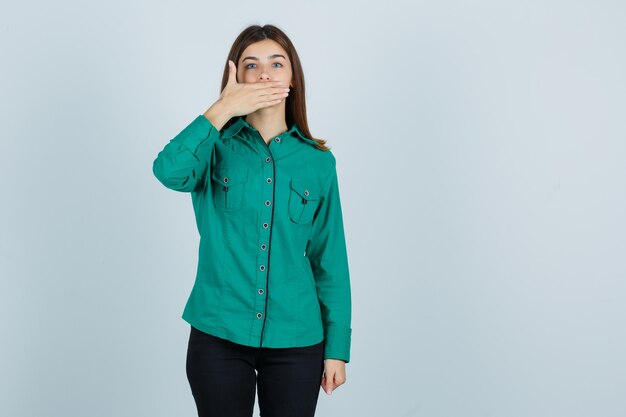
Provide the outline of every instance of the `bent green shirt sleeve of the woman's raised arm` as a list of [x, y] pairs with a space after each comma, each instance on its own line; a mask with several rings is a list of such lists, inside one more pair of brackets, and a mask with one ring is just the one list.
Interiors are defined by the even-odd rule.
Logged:
[[204, 115], [196, 117], [159, 152], [152, 172], [167, 188], [190, 192], [200, 185], [219, 130]]

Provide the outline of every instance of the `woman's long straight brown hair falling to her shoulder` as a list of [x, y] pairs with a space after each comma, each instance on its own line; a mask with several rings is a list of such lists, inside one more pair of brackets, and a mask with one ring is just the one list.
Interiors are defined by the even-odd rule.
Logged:
[[[293, 87], [289, 91], [289, 96], [285, 103], [285, 122], [287, 126], [291, 126], [292, 123], [296, 123], [300, 128], [300, 131], [304, 135], [317, 142], [317, 148], [323, 151], [330, 150], [330, 147], [326, 146], [326, 141], [323, 139], [314, 138], [309, 131], [309, 124], [306, 119], [306, 100], [304, 90], [304, 73], [302, 71], [302, 65], [300, 64], [300, 58], [296, 52], [296, 48], [291, 43], [289, 37], [280, 29], [274, 25], [251, 25], [245, 28], [237, 39], [233, 42], [228, 58], [224, 64], [224, 74], [222, 75], [222, 86], [220, 92], [224, 90], [228, 83], [228, 74], [230, 68], [228, 66], [228, 60], [232, 60], [235, 65], [238, 65], [239, 58], [243, 51], [250, 45], [264, 39], [272, 39], [282, 46], [289, 60], [291, 61], [291, 71], [293, 77]], [[231, 119], [232, 120], [232, 119]], [[230, 124], [230, 122], [228, 123]]]

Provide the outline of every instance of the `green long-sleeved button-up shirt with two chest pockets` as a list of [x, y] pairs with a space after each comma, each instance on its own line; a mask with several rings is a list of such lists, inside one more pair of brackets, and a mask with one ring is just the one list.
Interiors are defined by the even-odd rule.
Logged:
[[236, 116], [199, 115], [159, 152], [156, 178], [191, 193], [200, 248], [182, 318], [232, 342], [310, 346], [350, 361], [350, 279], [335, 157], [296, 123], [265, 143]]

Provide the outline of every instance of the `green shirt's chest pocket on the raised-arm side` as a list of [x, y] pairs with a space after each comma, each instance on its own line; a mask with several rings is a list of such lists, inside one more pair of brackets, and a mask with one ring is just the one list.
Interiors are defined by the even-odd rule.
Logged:
[[234, 211], [243, 207], [248, 168], [237, 166], [216, 166], [211, 174], [213, 181], [213, 201], [222, 211]]

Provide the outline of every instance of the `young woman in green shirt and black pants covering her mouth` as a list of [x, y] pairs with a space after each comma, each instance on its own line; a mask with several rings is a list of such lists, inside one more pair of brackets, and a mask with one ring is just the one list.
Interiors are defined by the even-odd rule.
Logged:
[[200, 248], [182, 318], [200, 417], [314, 416], [346, 380], [351, 296], [335, 157], [309, 132], [304, 75], [272, 25], [235, 40], [219, 99], [153, 164], [191, 194]]

